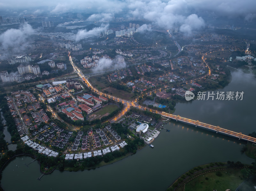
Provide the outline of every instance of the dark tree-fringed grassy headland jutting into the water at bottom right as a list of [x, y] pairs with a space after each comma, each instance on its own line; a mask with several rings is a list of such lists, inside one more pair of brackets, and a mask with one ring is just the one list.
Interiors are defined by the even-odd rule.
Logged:
[[[190, 169], [181, 175], [166, 191], [235, 190], [249, 175], [242, 169], [250, 165], [240, 162], [215, 162]], [[252, 166], [250, 166], [252, 167]]]

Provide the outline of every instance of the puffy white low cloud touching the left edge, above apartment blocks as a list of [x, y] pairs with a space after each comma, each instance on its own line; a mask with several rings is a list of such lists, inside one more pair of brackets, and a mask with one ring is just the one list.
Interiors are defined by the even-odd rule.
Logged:
[[8, 29], [0, 35], [0, 47], [4, 51], [19, 53], [28, 46], [29, 38], [34, 33], [35, 30], [28, 23], [21, 25], [19, 29]]

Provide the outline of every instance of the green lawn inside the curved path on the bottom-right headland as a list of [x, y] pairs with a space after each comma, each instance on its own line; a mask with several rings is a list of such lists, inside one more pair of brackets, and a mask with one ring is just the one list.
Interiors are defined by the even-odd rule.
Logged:
[[[235, 190], [244, 181], [241, 169], [219, 172], [221, 176], [217, 176], [216, 172], [209, 172], [204, 176], [196, 177], [186, 184], [185, 191]], [[206, 177], [208, 180], [205, 179]]]

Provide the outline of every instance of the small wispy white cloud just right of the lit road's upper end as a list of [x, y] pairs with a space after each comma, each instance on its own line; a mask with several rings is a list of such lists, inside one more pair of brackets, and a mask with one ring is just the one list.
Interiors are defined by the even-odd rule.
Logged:
[[93, 72], [101, 72], [101, 71], [107, 71], [110, 69], [119, 69], [126, 67], [125, 62], [120, 62], [120, 59], [122, 56], [118, 55], [113, 60], [110, 58], [100, 58], [98, 61], [98, 66], [93, 69]]

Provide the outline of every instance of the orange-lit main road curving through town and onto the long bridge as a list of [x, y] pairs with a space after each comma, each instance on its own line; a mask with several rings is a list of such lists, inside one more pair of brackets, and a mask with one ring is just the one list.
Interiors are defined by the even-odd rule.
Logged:
[[[114, 101], [117, 101], [117, 102], [121, 102], [124, 104], [124, 108], [121, 112], [119, 112], [117, 114], [117, 116], [115, 116], [114, 118], [111, 118], [109, 121], [111, 123], [119, 120], [129, 109], [130, 107], [136, 107], [136, 108], [139, 108], [139, 109], [143, 109], [143, 110], [148, 110], [148, 111], [151, 111], [153, 113], [157, 113], [157, 114], [160, 114], [162, 115], [163, 117], [167, 117], [167, 118], [172, 118], [176, 121], [181, 121], [181, 122], [186, 122], [186, 123], [189, 123], [191, 125], [195, 125], [195, 126], [201, 126], [201, 127], [204, 127], [208, 130], [212, 130], [212, 131], [216, 131], [216, 133], [222, 133], [222, 134], [226, 134], [228, 136], [233, 136], [233, 137], [236, 137], [236, 138], [239, 138], [239, 139], [243, 139], [243, 140], [246, 140], [246, 141], [251, 141], [251, 142], [254, 142], [256, 143], [256, 138], [253, 138], [253, 137], [250, 137], [248, 135], [244, 135], [242, 133], [237, 133], [237, 132], [234, 132], [234, 131], [230, 131], [228, 129], [224, 129], [224, 128], [220, 128], [219, 126], [213, 126], [213, 125], [210, 125], [210, 124], [206, 124], [206, 123], [203, 123], [203, 122], [200, 122], [198, 120], [193, 120], [193, 119], [189, 119], [189, 118], [184, 118], [184, 117], [180, 117], [179, 115], [173, 115], [173, 114], [170, 114], [170, 113], [166, 113], [166, 112], [163, 112], [163, 111], [157, 111], [157, 110], [152, 110], [152, 109], [149, 109], [147, 107], [144, 107], [144, 106], [141, 106], [139, 104], [137, 104], [137, 99], [134, 99], [132, 101], [127, 101], [127, 100], [124, 100], [124, 99], [121, 99], [121, 98], [118, 98], [118, 97], [115, 97], [115, 96], [111, 96], [111, 95], [108, 95], [106, 93], [103, 93], [101, 91], [99, 91], [98, 89], [94, 88], [92, 86], [92, 84], [89, 82], [88, 79], [85, 78], [84, 74], [82, 72], [80, 72], [80, 70], [76, 67], [76, 65], [73, 63], [72, 61], [72, 58], [71, 56], [69, 56], [69, 59], [70, 59], [70, 63], [71, 65], [73, 66], [74, 68], [74, 71], [81, 77], [81, 79], [84, 81], [84, 83], [92, 89], [92, 91], [94, 91], [95, 93], [97, 93], [98, 95], [101, 95], [101, 96], [105, 96], [105, 97], [108, 97], [110, 99], [113, 99]], [[202, 57], [202, 60], [205, 61], [205, 58], [204, 56]], [[208, 66], [208, 65], [207, 65]], [[208, 67], [209, 68], [209, 67]], [[209, 68], [209, 72], [207, 75], [211, 75], [211, 70]], [[159, 91], [161, 91], [161, 88], [158, 89]], [[157, 91], [157, 90], [156, 90]], [[151, 93], [151, 92], [150, 92]]]

